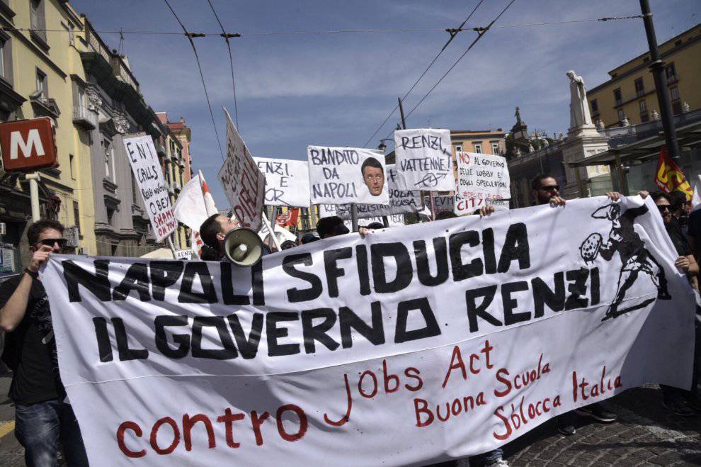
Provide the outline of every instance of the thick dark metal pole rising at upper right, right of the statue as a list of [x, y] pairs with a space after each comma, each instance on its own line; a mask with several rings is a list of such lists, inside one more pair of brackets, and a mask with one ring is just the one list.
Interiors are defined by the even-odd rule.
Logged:
[[672, 159], [679, 159], [679, 143], [677, 142], [677, 132], [674, 128], [674, 116], [667, 89], [667, 77], [664, 74], [664, 62], [660, 58], [659, 50], [657, 50], [657, 37], [655, 35], [655, 26], [652, 23], [652, 12], [650, 11], [649, 0], [640, 0], [640, 9], [643, 13], [647, 43], [650, 47], [649, 68], [650, 72], [652, 73], [652, 78], [655, 81], [657, 101], [660, 105], [660, 116], [662, 120], [662, 129], [664, 131], [665, 145], [667, 147], [669, 157]]

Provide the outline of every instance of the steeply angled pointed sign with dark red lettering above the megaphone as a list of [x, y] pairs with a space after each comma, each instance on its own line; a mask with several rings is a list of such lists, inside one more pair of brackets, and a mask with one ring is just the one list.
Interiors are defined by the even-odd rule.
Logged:
[[227, 159], [219, 171], [219, 180], [232, 205], [234, 218], [243, 227], [257, 230], [261, 225], [266, 177], [251, 157], [229, 113], [226, 110], [224, 113], [227, 116]]

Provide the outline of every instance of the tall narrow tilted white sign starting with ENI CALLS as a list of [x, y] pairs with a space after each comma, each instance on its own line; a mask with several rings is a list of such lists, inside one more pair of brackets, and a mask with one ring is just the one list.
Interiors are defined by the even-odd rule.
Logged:
[[154, 237], [160, 242], [178, 228], [178, 221], [173, 214], [154, 141], [147, 135], [135, 135], [124, 137], [122, 142], [149, 213]]

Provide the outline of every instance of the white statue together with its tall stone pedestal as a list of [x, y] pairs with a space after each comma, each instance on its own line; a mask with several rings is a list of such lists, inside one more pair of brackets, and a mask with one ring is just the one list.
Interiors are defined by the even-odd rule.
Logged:
[[[584, 80], [574, 70], [566, 73], [569, 77], [569, 130], [562, 150], [562, 159], [565, 163], [567, 184], [563, 194], [566, 197], [595, 196], [612, 189], [610, 171], [607, 166], [582, 167], [579, 171], [579, 179], [586, 190], [580, 193], [575, 169], [566, 165], [583, 157], [592, 157], [595, 154], [608, 150], [608, 136], [599, 133], [596, 125], [591, 121], [589, 104], [586, 100], [586, 87]], [[588, 183], [587, 183], [588, 182]]]

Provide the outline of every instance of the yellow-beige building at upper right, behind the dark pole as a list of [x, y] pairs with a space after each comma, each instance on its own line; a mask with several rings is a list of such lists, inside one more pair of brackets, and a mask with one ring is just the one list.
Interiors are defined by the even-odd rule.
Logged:
[[[701, 108], [701, 86], [697, 81], [701, 77], [701, 24], [659, 45], [659, 50], [666, 66], [673, 113], [682, 113], [684, 103], [690, 111]], [[610, 80], [590, 89], [587, 99], [592, 119], [601, 120], [608, 128], [621, 126], [624, 117], [636, 125], [652, 120], [653, 111], [659, 115], [649, 64], [649, 53], [639, 55], [612, 69]]]

